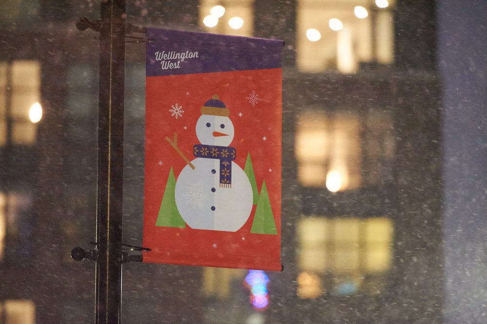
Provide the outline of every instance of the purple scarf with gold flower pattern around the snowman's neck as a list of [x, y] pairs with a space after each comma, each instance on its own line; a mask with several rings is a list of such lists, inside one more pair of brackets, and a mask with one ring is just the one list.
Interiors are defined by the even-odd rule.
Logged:
[[220, 160], [220, 187], [232, 188], [232, 161], [237, 150], [229, 146], [195, 144], [193, 154], [196, 157]]

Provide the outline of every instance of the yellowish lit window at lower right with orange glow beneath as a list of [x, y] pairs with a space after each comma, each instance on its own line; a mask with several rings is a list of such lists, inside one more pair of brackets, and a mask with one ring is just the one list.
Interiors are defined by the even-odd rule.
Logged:
[[[331, 275], [331, 291], [355, 293], [365, 277], [391, 267], [393, 223], [389, 218], [303, 217], [297, 228], [300, 243], [298, 295], [316, 298], [327, 290], [321, 277]], [[320, 277], [321, 276], [321, 277]], [[329, 277], [328, 277], [329, 278]]]

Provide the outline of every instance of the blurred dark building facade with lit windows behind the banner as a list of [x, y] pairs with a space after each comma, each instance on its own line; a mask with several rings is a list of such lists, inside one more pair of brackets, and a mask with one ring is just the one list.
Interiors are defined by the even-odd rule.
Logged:
[[[98, 4], [1, 6], [0, 323], [34, 323], [33, 314], [36, 323], [91, 323], [94, 264], [69, 252], [95, 237], [98, 41], [74, 21], [97, 19]], [[125, 322], [442, 322], [433, 1], [140, 0], [127, 3], [127, 21], [286, 46], [284, 272], [267, 273], [270, 304], [252, 307], [243, 270], [130, 263]], [[134, 245], [144, 52], [127, 44], [124, 242]], [[9, 322], [16, 316], [23, 322]]]

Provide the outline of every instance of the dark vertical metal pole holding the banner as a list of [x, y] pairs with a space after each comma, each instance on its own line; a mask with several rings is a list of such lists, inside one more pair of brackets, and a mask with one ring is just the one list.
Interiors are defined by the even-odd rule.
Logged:
[[95, 323], [120, 323], [125, 0], [101, 0]]

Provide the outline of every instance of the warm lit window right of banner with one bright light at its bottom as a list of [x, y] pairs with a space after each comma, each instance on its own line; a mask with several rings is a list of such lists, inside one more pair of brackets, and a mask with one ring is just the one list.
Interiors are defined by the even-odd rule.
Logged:
[[300, 183], [332, 192], [360, 186], [360, 129], [354, 114], [329, 116], [318, 110], [301, 114], [296, 129]]

